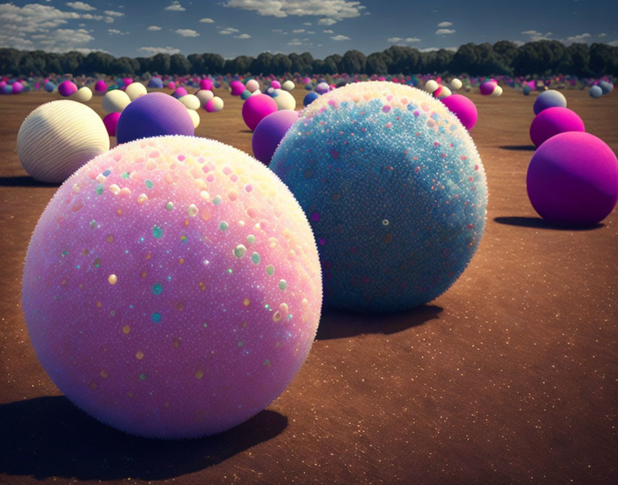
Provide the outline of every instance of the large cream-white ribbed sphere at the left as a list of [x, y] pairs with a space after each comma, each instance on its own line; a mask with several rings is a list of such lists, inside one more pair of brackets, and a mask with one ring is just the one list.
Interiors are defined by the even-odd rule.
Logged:
[[110, 136], [101, 117], [70, 99], [37, 107], [21, 123], [17, 134], [21, 165], [41, 182], [63, 182], [108, 149]]

